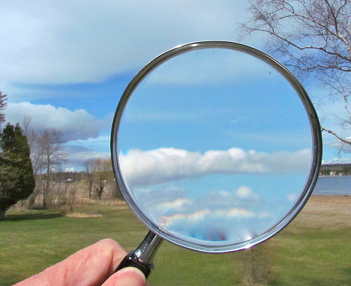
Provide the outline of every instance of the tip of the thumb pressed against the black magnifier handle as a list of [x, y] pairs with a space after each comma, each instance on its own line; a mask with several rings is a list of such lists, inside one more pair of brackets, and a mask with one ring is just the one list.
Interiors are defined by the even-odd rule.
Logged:
[[146, 278], [138, 268], [126, 267], [114, 273], [102, 286], [145, 286]]

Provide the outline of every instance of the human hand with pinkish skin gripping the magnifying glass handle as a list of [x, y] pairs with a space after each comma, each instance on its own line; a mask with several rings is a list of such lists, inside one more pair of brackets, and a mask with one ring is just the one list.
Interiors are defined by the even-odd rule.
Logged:
[[125, 256], [114, 240], [100, 240], [14, 286], [145, 286], [145, 275], [137, 268], [114, 273]]

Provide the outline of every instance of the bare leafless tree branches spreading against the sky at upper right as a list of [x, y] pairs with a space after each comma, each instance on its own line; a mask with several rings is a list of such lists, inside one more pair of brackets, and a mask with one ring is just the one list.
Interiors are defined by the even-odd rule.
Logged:
[[[333, 100], [343, 100], [346, 118], [338, 119], [343, 130], [351, 130], [351, 1], [251, 0], [249, 11], [244, 33], [269, 35], [269, 49], [284, 64], [328, 87]], [[322, 130], [351, 144], [336, 131]]]

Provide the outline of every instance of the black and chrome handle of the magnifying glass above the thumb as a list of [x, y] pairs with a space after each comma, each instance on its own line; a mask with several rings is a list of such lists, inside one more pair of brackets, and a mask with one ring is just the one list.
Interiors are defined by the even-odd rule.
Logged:
[[121, 261], [116, 272], [122, 268], [133, 266], [142, 271], [147, 278], [150, 275], [152, 268], [154, 268], [152, 261], [154, 260], [154, 256], [162, 241], [161, 237], [157, 236], [152, 231], [149, 231], [143, 242], [140, 243], [135, 250], [126, 254], [126, 257]]

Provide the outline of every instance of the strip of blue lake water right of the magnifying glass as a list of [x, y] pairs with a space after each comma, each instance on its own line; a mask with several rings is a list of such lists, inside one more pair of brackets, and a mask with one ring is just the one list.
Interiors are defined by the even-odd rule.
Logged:
[[312, 195], [351, 196], [351, 176], [321, 176]]

